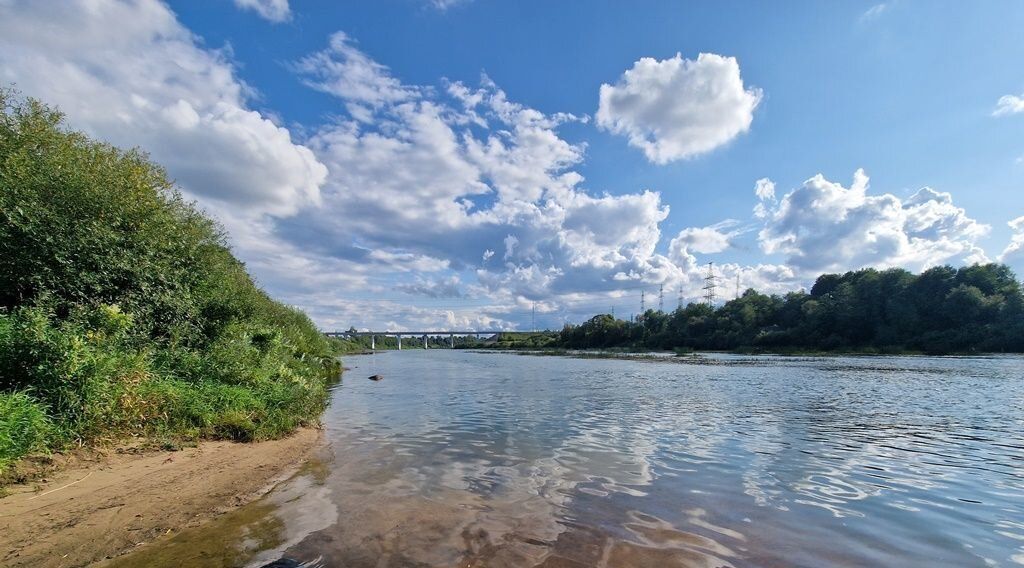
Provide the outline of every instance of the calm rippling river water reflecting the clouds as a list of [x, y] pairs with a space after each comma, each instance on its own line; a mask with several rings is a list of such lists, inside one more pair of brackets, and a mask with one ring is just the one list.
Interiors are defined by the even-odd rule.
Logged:
[[129, 564], [1024, 565], [1021, 358], [345, 363], [318, 458]]

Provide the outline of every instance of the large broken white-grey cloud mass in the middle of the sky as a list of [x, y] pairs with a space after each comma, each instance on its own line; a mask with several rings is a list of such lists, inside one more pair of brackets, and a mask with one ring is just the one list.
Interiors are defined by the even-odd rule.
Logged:
[[393, 258], [385, 253], [445, 259], [450, 270], [475, 273], [463, 297], [486, 298], [492, 310], [564, 306], [581, 291], [616, 289], [616, 277], [682, 277], [655, 253], [668, 215], [658, 193], [595, 196], [580, 186], [586, 146], [557, 129], [586, 117], [513, 102], [485, 76], [479, 87], [407, 85], [343, 34], [294, 69], [349, 118], [312, 136], [330, 170], [323, 206], [282, 221], [281, 237], [364, 262]]

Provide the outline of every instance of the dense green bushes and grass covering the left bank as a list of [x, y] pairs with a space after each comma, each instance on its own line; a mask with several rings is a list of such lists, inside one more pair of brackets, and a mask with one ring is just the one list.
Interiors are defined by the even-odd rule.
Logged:
[[163, 170], [37, 101], [0, 91], [0, 470], [101, 437], [316, 420], [338, 345], [263, 293]]

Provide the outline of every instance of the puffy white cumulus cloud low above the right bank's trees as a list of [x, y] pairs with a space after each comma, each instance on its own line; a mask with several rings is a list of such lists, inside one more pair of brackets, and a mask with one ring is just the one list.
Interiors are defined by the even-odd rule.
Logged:
[[765, 209], [762, 250], [809, 272], [986, 260], [976, 243], [989, 227], [968, 217], [949, 193], [924, 187], [901, 200], [867, 189], [863, 170], [850, 187], [812, 177]]

